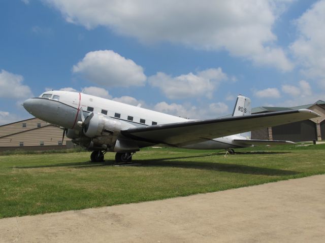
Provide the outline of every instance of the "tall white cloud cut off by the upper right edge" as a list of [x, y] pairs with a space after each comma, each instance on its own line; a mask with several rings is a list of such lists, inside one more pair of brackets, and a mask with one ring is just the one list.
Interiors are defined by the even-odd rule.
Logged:
[[290, 45], [308, 78], [318, 80], [325, 89], [325, 1], [313, 4], [296, 20], [299, 37]]

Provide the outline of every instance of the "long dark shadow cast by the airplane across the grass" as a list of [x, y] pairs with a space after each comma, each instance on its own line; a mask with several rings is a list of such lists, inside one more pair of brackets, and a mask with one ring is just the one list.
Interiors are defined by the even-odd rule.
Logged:
[[[246, 152], [240, 152], [240, 153], [246, 154]], [[265, 153], [269, 154], [269, 152], [265, 152]], [[274, 152], [274, 153], [278, 153], [278, 152]], [[139, 159], [134, 161], [135, 164], [129, 164], [129, 165], [125, 164], [124, 166], [206, 169], [206, 170], [215, 170], [215, 171], [223, 171], [223, 172], [230, 172], [230, 173], [243, 173], [243, 174], [264, 175], [264, 176], [290, 176], [290, 175], [297, 175], [301, 173], [299, 171], [265, 168], [265, 167], [257, 167], [257, 166], [242, 165], [242, 164], [227, 164], [227, 163], [218, 163], [218, 162], [198, 162], [198, 161], [191, 161], [191, 160], [187, 160], [187, 161], [181, 160], [181, 159], [202, 158], [211, 155], [219, 155], [219, 154], [203, 154], [203, 155], [196, 155], [196, 156], [176, 157], [176, 158]], [[234, 156], [234, 155], [230, 155], [230, 156]], [[15, 168], [21, 168], [21, 169], [50, 168], [50, 167], [91, 168], [91, 167], [113, 166], [113, 165], [116, 165], [115, 161], [106, 160], [100, 163], [92, 163], [90, 161], [86, 161], [86, 162], [77, 162], [77, 163], [58, 163], [58, 164], [38, 165], [38, 166], [20, 166]]]

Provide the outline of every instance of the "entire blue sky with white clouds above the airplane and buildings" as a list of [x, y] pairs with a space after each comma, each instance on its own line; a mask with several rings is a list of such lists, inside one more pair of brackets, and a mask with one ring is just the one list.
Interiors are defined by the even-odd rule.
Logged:
[[2, 0], [0, 125], [47, 90], [190, 119], [325, 100], [325, 0]]

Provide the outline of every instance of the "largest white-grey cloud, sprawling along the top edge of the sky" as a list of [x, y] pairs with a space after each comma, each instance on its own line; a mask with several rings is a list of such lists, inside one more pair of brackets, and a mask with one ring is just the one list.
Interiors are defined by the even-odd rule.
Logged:
[[44, 0], [68, 22], [107, 26], [143, 43], [167, 41], [231, 55], [289, 71], [293, 64], [276, 46], [272, 27], [292, 1]]

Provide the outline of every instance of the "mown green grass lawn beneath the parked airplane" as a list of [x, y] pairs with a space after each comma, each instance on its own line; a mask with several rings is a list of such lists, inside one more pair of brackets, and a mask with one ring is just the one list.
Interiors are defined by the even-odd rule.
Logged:
[[224, 152], [143, 149], [134, 166], [89, 152], [0, 156], [0, 218], [214, 192], [325, 173], [325, 144]]

